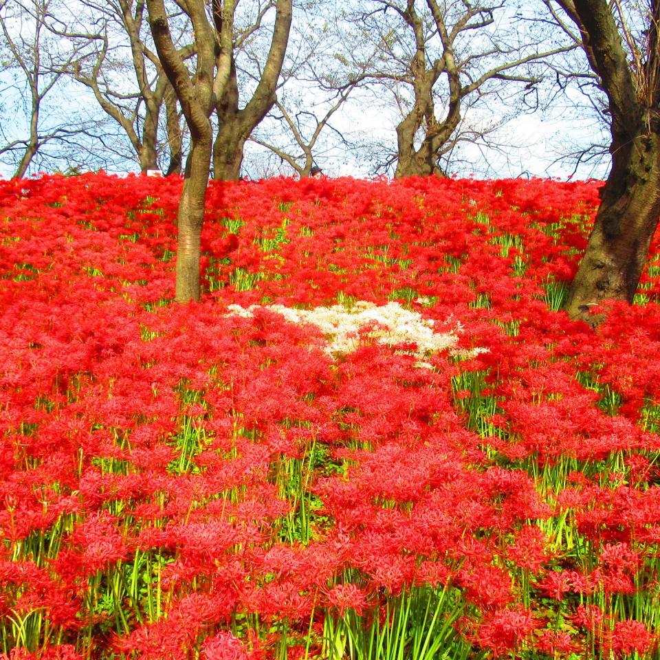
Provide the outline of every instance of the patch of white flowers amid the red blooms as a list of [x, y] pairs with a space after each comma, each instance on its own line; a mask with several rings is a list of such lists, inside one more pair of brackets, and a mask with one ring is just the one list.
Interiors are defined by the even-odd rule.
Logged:
[[[231, 316], [250, 318], [260, 305], [228, 305]], [[418, 360], [428, 358], [432, 353], [453, 349], [458, 342], [457, 332], [461, 325], [456, 322], [456, 329], [451, 332], [438, 333], [433, 331], [434, 321], [422, 318], [416, 311], [401, 307], [399, 303], [374, 305], [364, 300], [358, 301], [351, 308], [343, 305], [332, 307], [316, 307], [315, 309], [294, 309], [284, 305], [265, 305], [265, 309], [280, 314], [292, 323], [311, 323], [316, 325], [327, 338], [326, 351], [331, 355], [355, 351], [360, 342], [360, 329], [371, 325], [373, 328], [366, 333], [369, 338], [382, 344], [415, 344], [417, 349], [410, 351]], [[482, 349], [483, 350], [483, 349]], [[479, 351], [479, 349], [476, 349]], [[457, 353], [459, 351], [452, 351]], [[426, 362], [417, 366], [429, 367]]]

